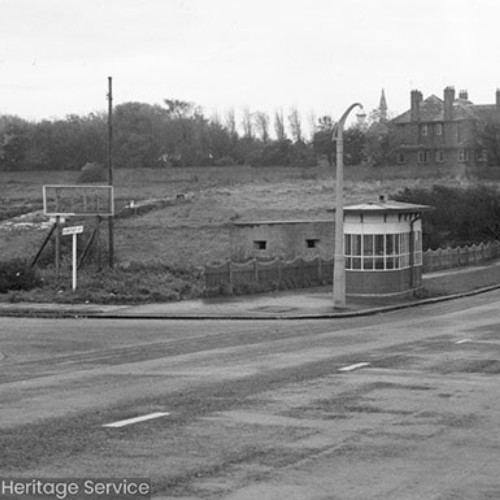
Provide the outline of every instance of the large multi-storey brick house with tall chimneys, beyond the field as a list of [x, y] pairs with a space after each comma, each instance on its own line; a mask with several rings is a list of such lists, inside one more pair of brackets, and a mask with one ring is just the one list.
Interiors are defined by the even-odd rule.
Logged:
[[466, 90], [458, 98], [446, 87], [443, 99], [422, 99], [411, 92], [411, 107], [391, 122], [391, 143], [400, 165], [462, 167], [468, 172], [488, 164], [488, 152], [479, 137], [486, 123], [500, 122], [500, 89], [494, 104], [473, 104]]

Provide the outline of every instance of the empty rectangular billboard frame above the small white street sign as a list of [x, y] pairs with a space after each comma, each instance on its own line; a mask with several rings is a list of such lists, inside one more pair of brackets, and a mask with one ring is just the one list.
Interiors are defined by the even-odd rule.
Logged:
[[43, 186], [43, 213], [110, 217], [114, 215], [113, 186]]

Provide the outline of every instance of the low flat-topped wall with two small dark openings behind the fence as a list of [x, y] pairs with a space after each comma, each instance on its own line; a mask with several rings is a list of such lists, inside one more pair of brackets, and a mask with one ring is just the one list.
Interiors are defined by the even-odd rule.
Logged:
[[[335, 245], [335, 224], [325, 221], [278, 221], [237, 223], [229, 231], [231, 260], [249, 259], [328, 259]], [[308, 248], [307, 242], [315, 247]], [[265, 248], [259, 248], [265, 242]]]

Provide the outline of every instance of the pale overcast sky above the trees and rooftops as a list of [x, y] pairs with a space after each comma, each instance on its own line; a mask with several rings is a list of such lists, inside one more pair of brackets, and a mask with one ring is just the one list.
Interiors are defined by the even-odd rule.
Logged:
[[500, 87], [498, 0], [0, 0], [0, 114], [60, 118], [114, 102], [193, 101], [210, 116], [297, 107], [338, 118], [385, 89]]

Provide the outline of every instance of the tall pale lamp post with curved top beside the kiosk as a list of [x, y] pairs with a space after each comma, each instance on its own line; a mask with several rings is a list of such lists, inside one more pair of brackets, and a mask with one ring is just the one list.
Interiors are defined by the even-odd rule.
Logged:
[[333, 307], [345, 307], [344, 258], [344, 124], [349, 113], [363, 106], [351, 104], [336, 125], [333, 139], [337, 141], [337, 178], [335, 186], [335, 255], [333, 258]]

